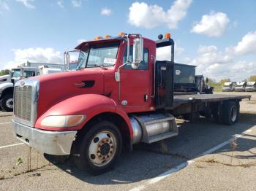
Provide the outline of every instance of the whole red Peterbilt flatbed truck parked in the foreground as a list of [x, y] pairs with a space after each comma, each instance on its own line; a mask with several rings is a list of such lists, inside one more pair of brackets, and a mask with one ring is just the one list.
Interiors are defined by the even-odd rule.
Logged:
[[[156, 50], [171, 46], [170, 61]], [[91, 174], [108, 171], [123, 146], [178, 135], [175, 116], [212, 114], [218, 123], [238, 120], [249, 95], [173, 95], [174, 41], [119, 34], [83, 42], [77, 71], [22, 79], [15, 84], [12, 126], [29, 147], [70, 155]], [[65, 63], [69, 68], [69, 53]], [[211, 116], [211, 115], [210, 115]]]

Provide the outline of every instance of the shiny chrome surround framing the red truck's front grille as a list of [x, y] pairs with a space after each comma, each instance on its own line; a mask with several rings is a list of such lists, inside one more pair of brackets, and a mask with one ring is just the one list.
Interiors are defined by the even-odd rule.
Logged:
[[[34, 124], [37, 120], [37, 104], [38, 104], [38, 94], [39, 94], [39, 81], [37, 79], [22, 79], [18, 82], [15, 83], [15, 87], [20, 86], [20, 82], [25, 82], [24, 86], [31, 86], [32, 87], [32, 92], [31, 92], [31, 117], [30, 120], [23, 120], [17, 116], [15, 116], [15, 112], [13, 115], [13, 119], [17, 122], [20, 122], [24, 125], [28, 125], [30, 127], [34, 127]], [[15, 95], [15, 88], [14, 88], [14, 93]], [[15, 97], [15, 96], [14, 96]], [[14, 100], [15, 102], [15, 100]], [[15, 104], [14, 104], [14, 111], [15, 111]]]

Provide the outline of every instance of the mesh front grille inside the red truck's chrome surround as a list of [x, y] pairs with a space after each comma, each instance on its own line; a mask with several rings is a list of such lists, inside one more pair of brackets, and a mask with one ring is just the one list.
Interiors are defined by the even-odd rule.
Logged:
[[31, 94], [32, 86], [15, 86], [14, 115], [22, 120], [31, 120]]

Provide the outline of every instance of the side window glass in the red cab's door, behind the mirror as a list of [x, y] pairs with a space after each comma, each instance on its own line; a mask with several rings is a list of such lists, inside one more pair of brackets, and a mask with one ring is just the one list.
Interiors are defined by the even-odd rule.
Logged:
[[[133, 52], [133, 47], [129, 47], [129, 61], [132, 61], [132, 52]], [[127, 47], [124, 52], [124, 58], [123, 62], [127, 62]], [[124, 69], [132, 69], [131, 63], [128, 63], [127, 65], [124, 66]], [[143, 48], [143, 61], [140, 63], [140, 66], [138, 67], [138, 70], [148, 70], [148, 49]]]

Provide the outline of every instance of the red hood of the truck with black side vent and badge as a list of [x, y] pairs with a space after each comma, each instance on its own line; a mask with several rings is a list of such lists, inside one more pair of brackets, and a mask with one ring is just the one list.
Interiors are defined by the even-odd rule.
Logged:
[[39, 80], [37, 116], [66, 98], [87, 93], [103, 94], [104, 75], [103, 69], [96, 68], [33, 77]]

